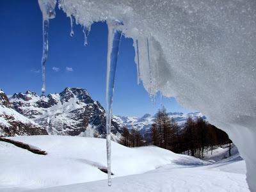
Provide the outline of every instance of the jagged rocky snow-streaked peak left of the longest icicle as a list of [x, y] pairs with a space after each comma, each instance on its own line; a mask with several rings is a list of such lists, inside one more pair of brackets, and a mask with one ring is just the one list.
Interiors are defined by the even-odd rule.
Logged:
[[[13, 108], [47, 129], [49, 134], [70, 136], [106, 136], [106, 113], [83, 88], [65, 88], [47, 96], [34, 92], [15, 93], [10, 97]], [[120, 135], [115, 122], [113, 136]]]

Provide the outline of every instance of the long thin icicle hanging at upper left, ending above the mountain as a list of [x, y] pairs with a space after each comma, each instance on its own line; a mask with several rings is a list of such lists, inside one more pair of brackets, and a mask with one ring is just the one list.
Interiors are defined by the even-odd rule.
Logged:
[[45, 93], [45, 63], [48, 58], [48, 29], [49, 19], [55, 17], [56, 0], [38, 0], [40, 10], [43, 15], [43, 55], [42, 55], [42, 94]]

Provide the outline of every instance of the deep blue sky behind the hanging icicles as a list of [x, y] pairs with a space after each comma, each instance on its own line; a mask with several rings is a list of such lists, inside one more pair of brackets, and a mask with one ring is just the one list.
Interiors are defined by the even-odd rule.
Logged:
[[[42, 86], [42, 13], [36, 0], [0, 1], [0, 88], [10, 95], [31, 90], [40, 94]], [[81, 26], [70, 34], [70, 19], [56, 8], [50, 20], [49, 56], [46, 63], [46, 93], [59, 93], [65, 87], [86, 88], [93, 100], [105, 106], [106, 56], [108, 28], [106, 23], [93, 24], [84, 47]], [[167, 111], [191, 112], [175, 99], [162, 101]], [[122, 38], [113, 101], [113, 113], [125, 116], [154, 114], [161, 106], [137, 84], [132, 40]]]

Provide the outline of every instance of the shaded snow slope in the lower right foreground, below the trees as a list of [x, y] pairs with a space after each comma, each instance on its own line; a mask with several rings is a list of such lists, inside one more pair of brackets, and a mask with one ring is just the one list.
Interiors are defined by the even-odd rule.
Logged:
[[[113, 186], [110, 188], [106, 180], [99, 180], [33, 191], [249, 191], [245, 180], [245, 163], [236, 158], [237, 155], [239, 156], [236, 147], [232, 149], [234, 149], [232, 152], [234, 156], [214, 164], [196, 166], [189, 164], [190, 161], [177, 159], [177, 161], [174, 160], [175, 163], [164, 164], [147, 173], [114, 178]], [[220, 152], [217, 148], [214, 154], [221, 156], [225, 152]]]

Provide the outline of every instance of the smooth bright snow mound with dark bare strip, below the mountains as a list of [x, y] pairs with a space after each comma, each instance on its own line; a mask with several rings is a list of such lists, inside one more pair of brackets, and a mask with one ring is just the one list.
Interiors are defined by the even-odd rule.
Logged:
[[[47, 152], [40, 156], [0, 141], [0, 191], [49, 188], [107, 179], [106, 140], [78, 136], [17, 136]], [[164, 164], [209, 164], [158, 147], [127, 148], [112, 142], [113, 177], [145, 173]]]

